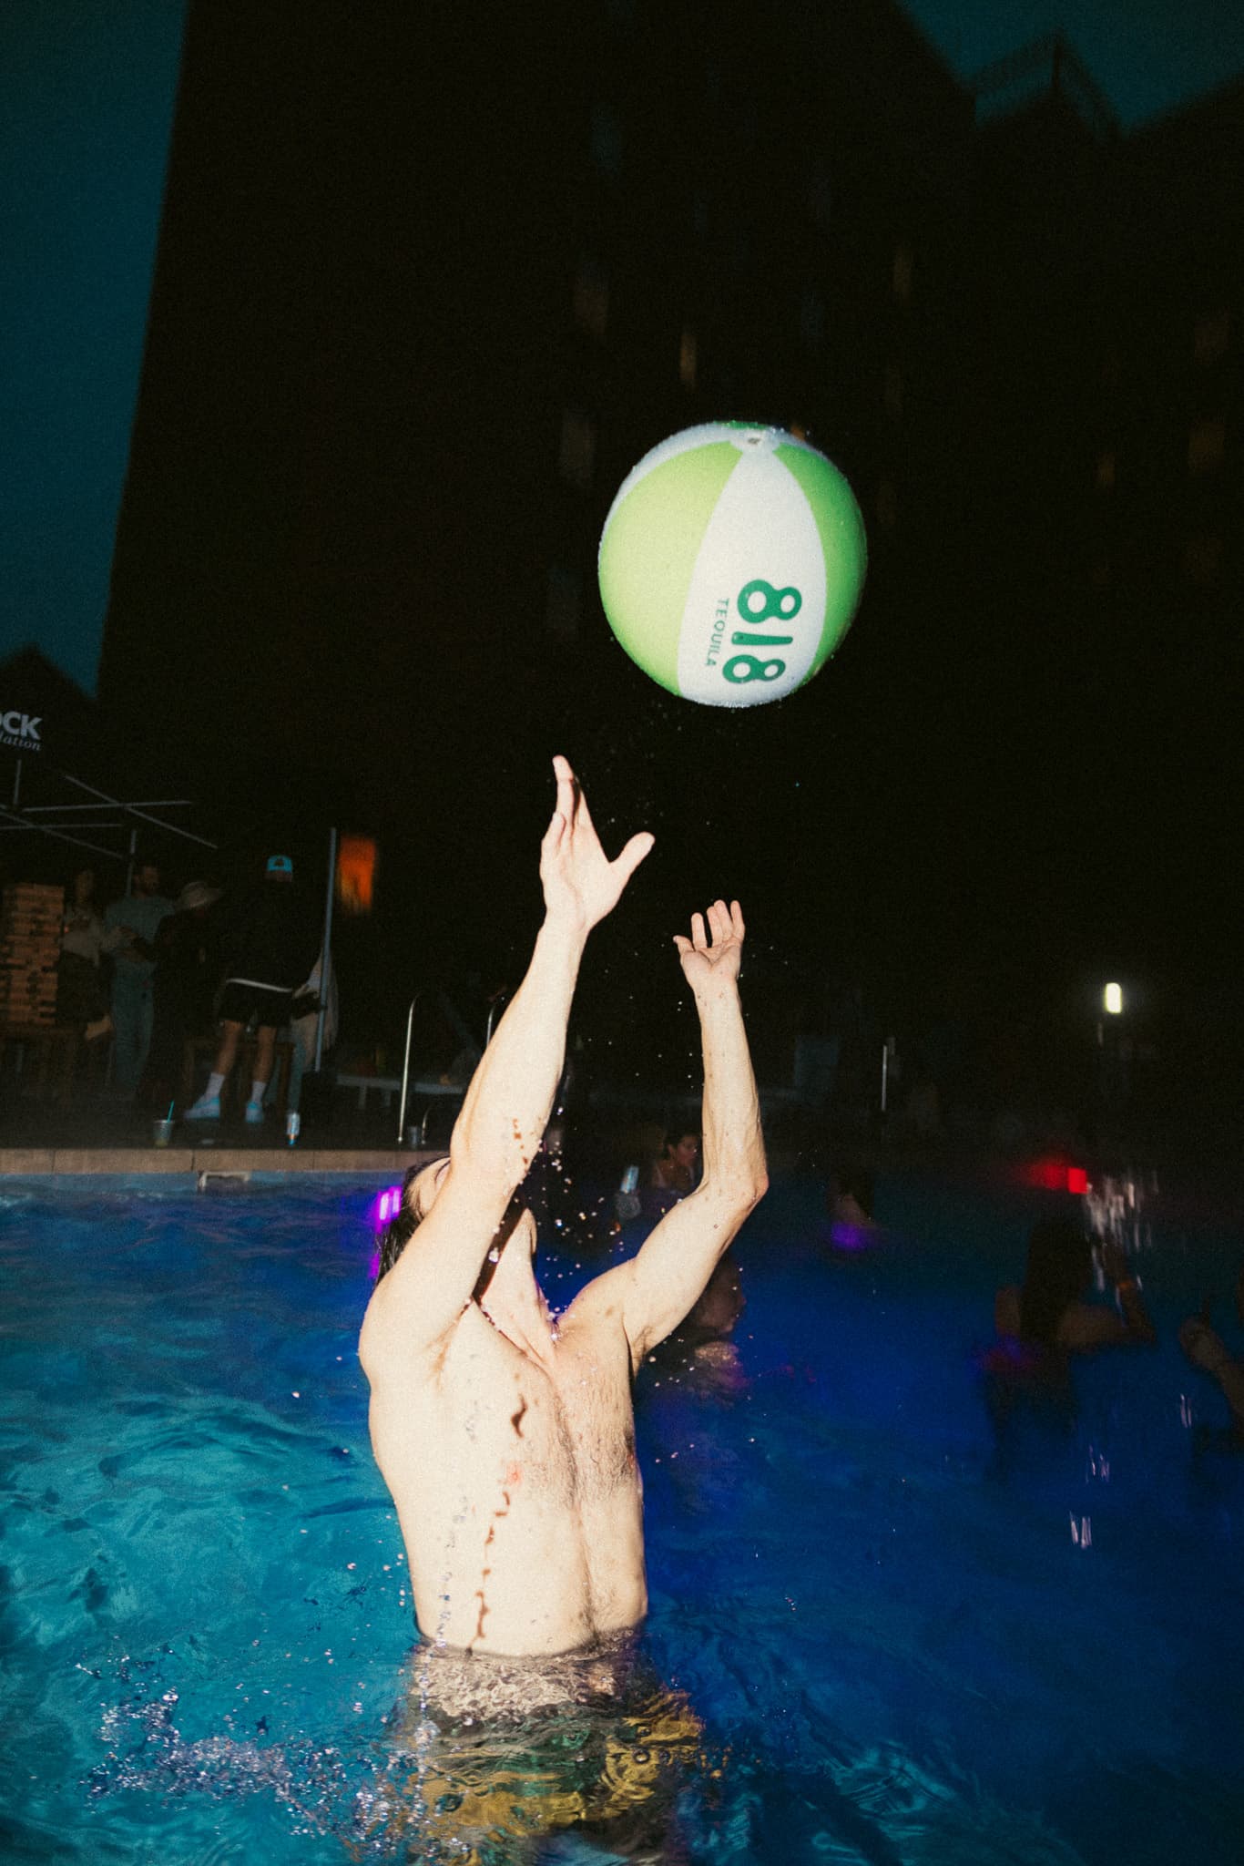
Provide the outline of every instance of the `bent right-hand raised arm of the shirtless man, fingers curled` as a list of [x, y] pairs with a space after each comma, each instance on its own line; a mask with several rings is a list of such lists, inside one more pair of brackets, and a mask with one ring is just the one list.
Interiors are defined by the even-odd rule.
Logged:
[[[666, 1213], [617, 1276], [632, 1364], [666, 1338], [703, 1295], [718, 1260], [768, 1189], [761, 1108], [739, 1002], [742, 912], [714, 901], [692, 916], [692, 937], [675, 935], [696, 998], [703, 1041], [703, 1181]], [[601, 1284], [606, 1278], [599, 1278]]]

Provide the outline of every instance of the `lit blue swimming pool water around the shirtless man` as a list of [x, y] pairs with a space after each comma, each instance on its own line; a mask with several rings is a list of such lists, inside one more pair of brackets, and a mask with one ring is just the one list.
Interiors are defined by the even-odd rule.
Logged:
[[[373, 1198], [0, 1189], [6, 1860], [431, 1857], [358, 1816], [412, 1636], [354, 1358]], [[744, 1388], [645, 1370], [645, 1646], [703, 1722], [662, 1857], [1240, 1860], [1244, 1459], [1196, 1450], [1225, 1409], [1173, 1344], [1229, 1241], [1158, 1207], [1162, 1345], [1000, 1459], [974, 1345], [1031, 1209], [895, 1176], [830, 1260], [780, 1189]], [[574, 1845], [494, 1857], [617, 1857]]]

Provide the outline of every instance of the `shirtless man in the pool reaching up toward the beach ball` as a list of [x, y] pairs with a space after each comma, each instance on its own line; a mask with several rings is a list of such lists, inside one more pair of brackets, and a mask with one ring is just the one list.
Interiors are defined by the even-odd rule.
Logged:
[[[459, 1653], [608, 1646], [647, 1608], [630, 1381], [690, 1312], [767, 1187], [739, 1004], [742, 914], [675, 935], [703, 1039], [703, 1179], [643, 1248], [554, 1321], [520, 1185], [561, 1075], [589, 931], [653, 838], [610, 862], [565, 758], [541, 843], [545, 924], [466, 1092], [448, 1161], [407, 1189], [408, 1241], [360, 1338], [371, 1444], [394, 1493], [423, 1636]], [[414, 1228], [412, 1228], [414, 1220]]]

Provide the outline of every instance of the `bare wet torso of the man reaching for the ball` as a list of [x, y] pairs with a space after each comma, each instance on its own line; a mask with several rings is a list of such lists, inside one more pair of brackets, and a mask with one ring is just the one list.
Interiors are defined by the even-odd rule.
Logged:
[[630, 1349], [591, 1286], [539, 1358], [472, 1301], [436, 1358], [377, 1370], [371, 1442], [427, 1638], [560, 1653], [643, 1618]]

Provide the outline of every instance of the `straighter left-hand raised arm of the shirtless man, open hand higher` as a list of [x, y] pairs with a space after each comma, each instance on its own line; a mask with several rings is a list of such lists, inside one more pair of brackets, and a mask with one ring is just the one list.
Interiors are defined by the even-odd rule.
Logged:
[[558, 802], [539, 870], [545, 924], [526, 978], [466, 1090], [435, 1204], [371, 1297], [366, 1358], [388, 1345], [408, 1351], [436, 1340], [470, 1301], [548, 1123], [587, 935], [617, 905], [653, 847], [649, 834], [632, 836], [614, 862], [606, 860], [567, 759], [554, 758], [554, 771]]

